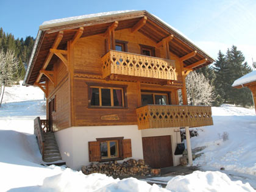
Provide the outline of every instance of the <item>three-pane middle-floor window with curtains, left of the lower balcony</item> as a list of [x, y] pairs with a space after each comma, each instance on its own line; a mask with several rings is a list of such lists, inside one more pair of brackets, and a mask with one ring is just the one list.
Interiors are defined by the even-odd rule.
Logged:
[[90, 86], [89, 106], [124, 107], [124, 88]]

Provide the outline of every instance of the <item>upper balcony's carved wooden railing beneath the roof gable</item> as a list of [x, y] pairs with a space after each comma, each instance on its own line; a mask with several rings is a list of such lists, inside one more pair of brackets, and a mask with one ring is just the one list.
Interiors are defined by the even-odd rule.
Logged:
[[110, 74], [177, 80], [175, 60], [109, 51], [102, 59], [102, 76]]

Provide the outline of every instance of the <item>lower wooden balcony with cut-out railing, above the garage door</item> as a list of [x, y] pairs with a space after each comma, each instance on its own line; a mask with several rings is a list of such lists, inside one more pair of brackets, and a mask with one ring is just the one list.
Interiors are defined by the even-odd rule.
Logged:
[[188, 105], [146, 105], [137, 108], [138, 129], [213, 125], [212, 108]]

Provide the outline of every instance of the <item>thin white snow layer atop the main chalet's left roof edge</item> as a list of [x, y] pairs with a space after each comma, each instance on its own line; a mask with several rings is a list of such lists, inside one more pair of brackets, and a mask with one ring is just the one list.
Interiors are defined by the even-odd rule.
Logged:
[[62, 19], [58, 19], [58, 20], [44, 21], [40, 27], [49, 26], [52, 24], [68, 23], [70, 21], [72, 21], [72, 22], [80, 21], [80, 20], [94, 18], [94, 17], [98, 17], [98, 16], [115, 15], [115, 14], [119, 14], [119, 13], [127, 13], [127, 12], [134, 12], [134, 11], [136, 11], [136, 10], [123, 10], [123, 11], [94, 13], [94, 14], [89, 14], [89, 15], [70, 16], [70, 17], [66, 17], [66, 18], [62, 18]]

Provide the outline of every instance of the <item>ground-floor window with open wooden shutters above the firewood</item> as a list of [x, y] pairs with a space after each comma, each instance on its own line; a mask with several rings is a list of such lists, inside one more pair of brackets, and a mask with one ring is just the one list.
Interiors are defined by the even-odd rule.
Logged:
[[130, 139], [124, 137], [96, 138], [88, 142], [90, 162], [107, 162], [132, 157]]

